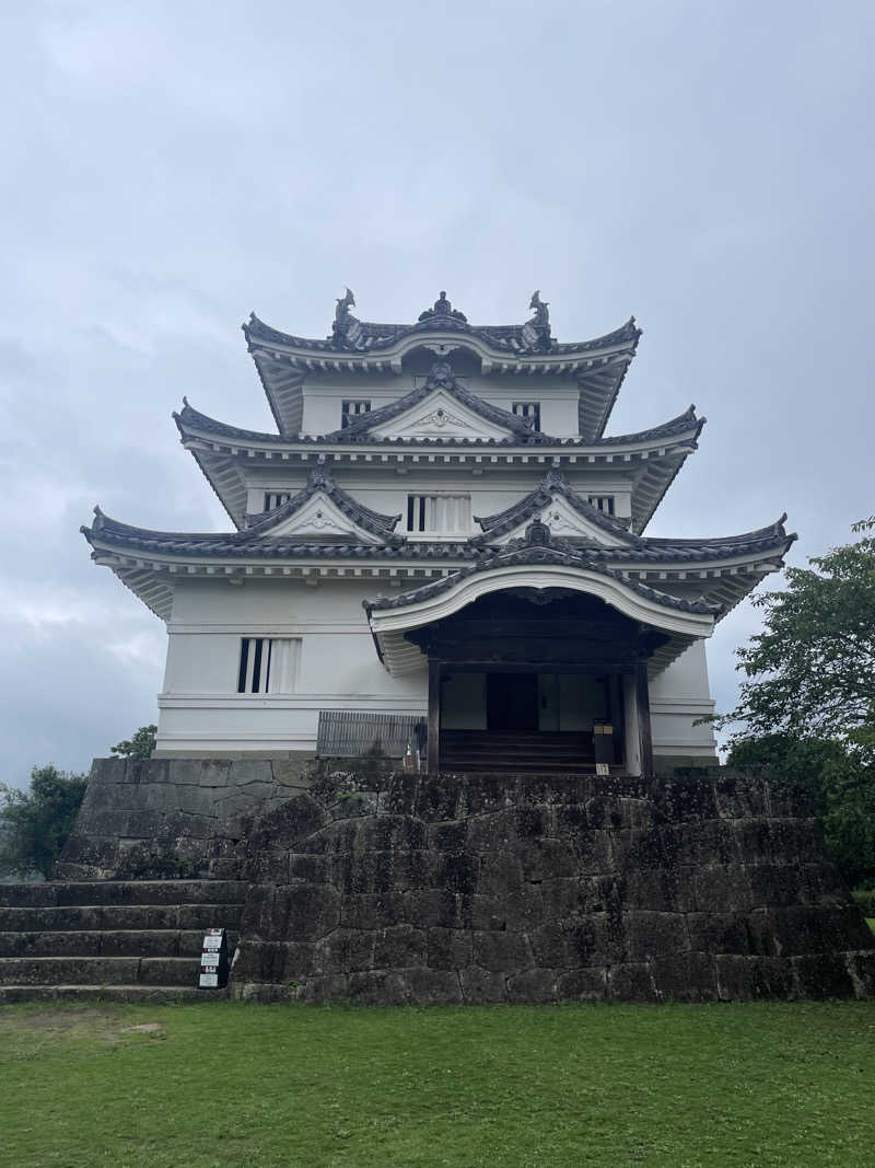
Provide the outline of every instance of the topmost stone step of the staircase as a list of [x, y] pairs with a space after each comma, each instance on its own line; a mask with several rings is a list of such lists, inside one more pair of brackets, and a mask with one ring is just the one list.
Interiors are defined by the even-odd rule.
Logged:
[[242, 904], [247, 885], [222, 880], [44, 881], [0, 884], [0, 908], [96, 904]]

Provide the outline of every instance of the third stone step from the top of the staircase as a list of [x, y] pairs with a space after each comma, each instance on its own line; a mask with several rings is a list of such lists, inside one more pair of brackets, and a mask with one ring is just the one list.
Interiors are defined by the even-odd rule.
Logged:
[[[228, 934], [233, 953], [237, 932]], [[77, 929], [70, 932], [0, 932], [0, 958], [4, 957], [200, 957], [204, 930], [153, 929], [106, 930]]]

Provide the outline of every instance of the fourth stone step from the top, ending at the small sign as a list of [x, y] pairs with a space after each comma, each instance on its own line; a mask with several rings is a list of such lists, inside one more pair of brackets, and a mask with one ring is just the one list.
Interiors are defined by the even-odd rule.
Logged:
[[197, 986], [191, 957], [0, 957], [0, 986]]

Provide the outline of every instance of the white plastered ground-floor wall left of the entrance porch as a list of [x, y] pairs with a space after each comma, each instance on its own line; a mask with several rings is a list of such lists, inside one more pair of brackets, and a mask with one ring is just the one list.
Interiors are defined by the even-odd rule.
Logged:
[[[362, 609], [385, 584], [182, 580], [159, 695], [163, 756], [314, 751], [320, 710], [425, 714], [422, 673], [392, 677]], [[294, 693], [238, 694], [244, 637], [300, 638]], [[425, 667], [425, 659], [424, 659]]]

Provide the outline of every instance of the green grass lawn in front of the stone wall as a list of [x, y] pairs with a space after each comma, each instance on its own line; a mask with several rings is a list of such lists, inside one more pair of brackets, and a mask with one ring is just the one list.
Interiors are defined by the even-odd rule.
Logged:
[[14, 1006], [0, 1164], [849, 1168], [874, 1082], [875, 1002]]

